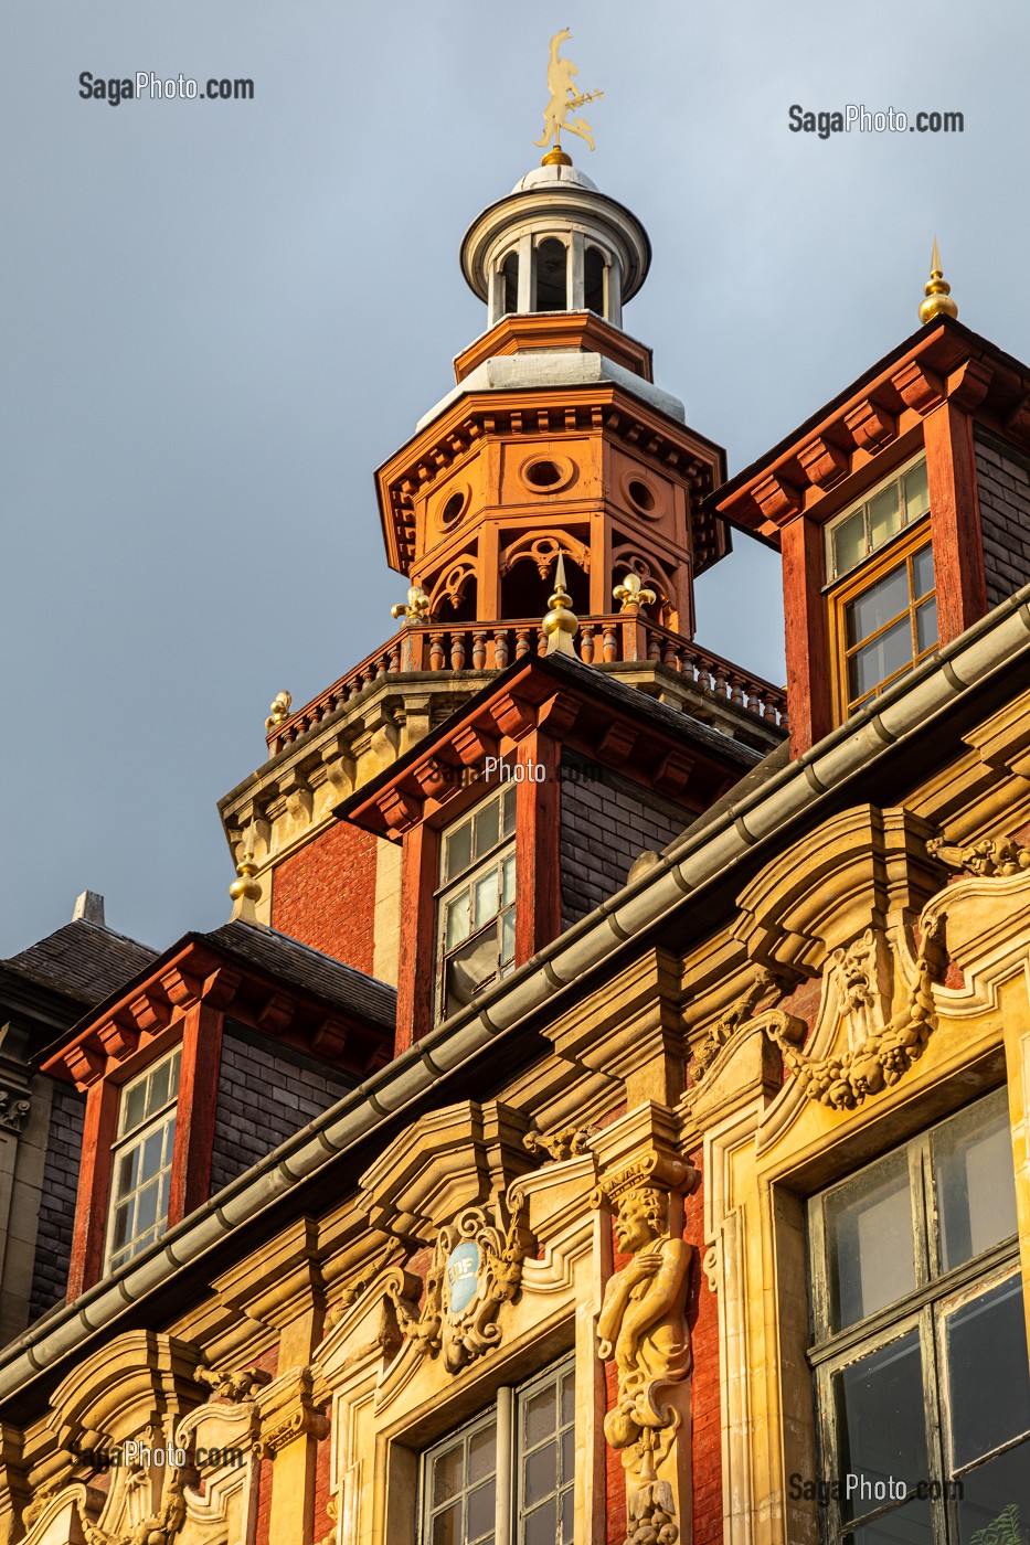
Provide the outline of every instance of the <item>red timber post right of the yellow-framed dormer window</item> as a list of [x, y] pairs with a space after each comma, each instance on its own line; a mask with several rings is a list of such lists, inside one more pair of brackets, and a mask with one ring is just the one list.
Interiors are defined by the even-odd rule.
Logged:
[[987, 613], [973, 420], [951, 402], [926, 416], [926, 482], [937, 586], [937, 635], [951, 643]]

